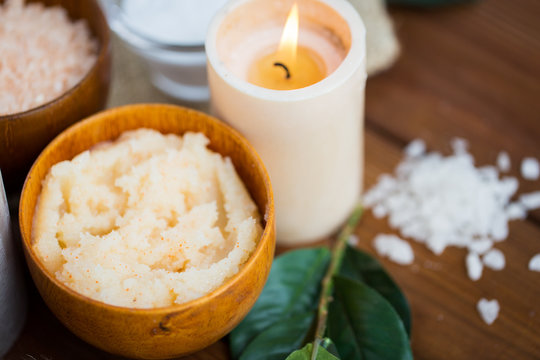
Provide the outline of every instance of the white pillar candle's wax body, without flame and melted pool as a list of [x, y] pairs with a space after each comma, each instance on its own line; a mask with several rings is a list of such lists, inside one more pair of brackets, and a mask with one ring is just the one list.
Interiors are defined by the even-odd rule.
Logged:
[[243, 133], [265, 162], [275, 192], [278, 243], [334, 232], [358, 201], [363, 168], [365, 29], [344, 0], [300, 0], [299, 43], [327, 76], [296, 90], [247, 82], [247, 68], [277, 46], [293, 0], [237, 0], [206, 39], [214, 112]]

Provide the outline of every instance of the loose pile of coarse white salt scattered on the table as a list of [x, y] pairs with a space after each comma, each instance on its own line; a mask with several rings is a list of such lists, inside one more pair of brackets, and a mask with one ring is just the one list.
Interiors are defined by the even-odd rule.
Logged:
[[[480, 279], [484, 266], [502, 270], [504, 254], [493, 246], [507, 238], [509, 221], [524, 219], [528, 211], [540, 208], [540, 191], [512, 200], [518, 179], [499, 176], [510, 170], [505, 152], [499, 154], [497, 167], [476, 167], [463, 139], [452, 141], [450, 156], [426, 153], [425, 149], [422, 140], [411, 142], [395, 176], [382, 175], [364, 195], [364, 205], [377, 218], [388, 216], [390, 226], [403, 237], [424, 243], [437, 255], [448, 246], [466, 248], [465, 264], [472, 280]], [[538, 179], [538, 170], [536, 159], [524, 159], [521, 171], [525, 179]], [[392, 261], [413, 262], [410, 245], [399, 237], [380, 234], [374, 246]], [[531, 270], [538, 269], [536, 262], [531, 259], [535, 263], [529, 264]], [[488, 307], [479, 304], [478, 309], [485, 319], [482, 311]]]

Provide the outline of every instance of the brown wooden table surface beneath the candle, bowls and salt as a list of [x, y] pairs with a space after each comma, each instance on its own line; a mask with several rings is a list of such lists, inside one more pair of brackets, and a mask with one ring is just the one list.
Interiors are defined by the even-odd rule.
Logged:
[[[478, 164], [493, 164], [497, 153], [507, 150], [512, 175], [518, 175], [524, 156], [540, 157], [538, 0], [484, 0], [437, 10], [392, 9], [392, 14], [403, 53], [390, 71], [368, 81], [367, 187], [393, 170], [414, 138], [448, 152], [452, 137], [464, 137]], [[116, 70], [129, 71], [135, 60], [125, 62], [128, 55], [120, 53]], [[112, 105], [171, 101], [142, 88], [121, 99], [122, 81], [114, 83]], [[540, 181], [521, 181], [520, 192], [535, 189]], [[375, 234], [390, 231], [386, 220], [368, 213], [357, 230], [359, 246], [374, 253]], [[509, 238], [497, 245], [506, 268], [486, 270], [477, 282], [466, 275], [464, 250], [450, 248], [438, 257], [423, 245], [412, 246], [414, 265], [382, 262], [411, 303], [416, 359], [540, 359], [540, 273], [527, 270], [540, 252], [540, 211], [511, 223]], [[29, 287], [28, 321], [6, 359], [118, 359], [72, 335]], [[481, 297], [501, 304], [492, 326], [476, 311]], [[229, 359], [226, 341], [185, 359]]]

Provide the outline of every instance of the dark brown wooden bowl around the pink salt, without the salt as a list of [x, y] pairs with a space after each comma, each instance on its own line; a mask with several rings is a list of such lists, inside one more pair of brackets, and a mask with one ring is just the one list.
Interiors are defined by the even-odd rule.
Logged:
[[[0, 0], [0, 4], [4, 0]], [[37, 2], [30, 0], [27, 2]], [[69, 125], [105, 107], [110, 83], [110, 32], [97, 0], [40, 0], [85, 19], [99, 41], [98, 58], [86, 76], [60, 97], [28, 111], [0, 116], [0, 168], [6, 186], [20, 190], [39, 152]], [[47, 31], [47, 29], [43, 29]]]

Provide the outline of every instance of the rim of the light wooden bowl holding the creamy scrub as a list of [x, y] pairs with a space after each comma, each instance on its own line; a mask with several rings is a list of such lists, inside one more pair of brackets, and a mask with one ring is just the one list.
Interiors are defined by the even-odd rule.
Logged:
[[[105, 302], [92, 299], [86, 295], [83, 295], [81, 293], [76, 292], [75, 290], [72, 290], [70, 287], [56, 279], [54, 274], [51, 274], [43, 265], [39, 257], [34, 253], [33, 247], [32, 247], [32, 239], [31, 239], [31, 231], [33, 226], [33, 219], [31, 219], [30, 224], [30, 231], [23, 231], [23, 228], [26, 227], [25, 223], [22, 221], [23, 219], [23, 210], [22, 206], [23, 203], [26, 202], [27, 195], [27, 182], [30, 178], [34, 175], [34, 171], [37, 164], [40, 162], [41, 158], [45, 156], [45, 154], [50, 149], [53, 148], [53, 145], [60, 143], [63, 141], [64, 138], [68, 137], [69, 135], [76, 133], [79, 131], [80, 128], [84, 128], [88, 126], [89, 123], [92, 123], [94, 121], [97, 121], [98, 119], [101, 119], [103, 117], [109, 117], [113, 114], [124, 114], [129, 115], [130, 113], [137, 111], [140, 108], [148, 108], [152, 107], [154, 109], [160, 109], [160, 108], [167, 108], [174, 111], [182, 111], [182, 112], [195, 112], [203, 116], [205, 118], [205, 121], [208, 121], [210, 123], [214, 123], [217, 127], [222, 127], [225, 132], [228, 134], [228, 136], [231, 136], [235, 141], [239, 142], [240, 144], [245, 146], [245, 149], [247, 149], [249, 156], [252, 157], [255, 160], [256, 168], [258, 172], [260, 172], [264, 178], [264, 188], [266, 193], [266, 209], [264, 213], [261, 213], [261, 216], [263, 217], [263, 220], [266, 222], [264, 226], [263, 233], [260, 235], [259, 242], [251, 255], [249, 256], [248, 260], [242, 265], [240, 270], [234, 274], [232, 277], [227, 279], [223, 284], [218, 286], [214, 291], [201, 296], [200, 298], [190, 300], [188, 302], [182, 303], [182, 304], [173, 304], [169, 306], [164, 307], [156, 307], [156, 308], [130, 308], [125, 306], [117, 306], [117, 305], [111, 305], [107, 304]], [[106, 140], [103, 140], [106, 141]], [[42, 181], [43, 179], [41, 179]], [[35, 206], [36, 204], [34, 204]], [[259, 209], [260, 210], [260, 209]], [[262, 162], [260, 156], [255, 151], [253, 146], [242, 136], [240, 133], [238, 133], [235, 129], [230, 127], [229, 125], [225, 124], [224, 122], [218, 120], [217, 118], [208, 115], [204, 112], [197, 111], [194, 109], [190, 109], [183, 106], [178, 105], [169, 105], [169, 104], [151, 104], [151, 103], [142, 103], [142, 104], [131, 104], [131, 105], [125, 105], [120, 106], [108, 110], [104, 110], [101, 112], [98, 112], [82, 121], [79, 121], [70, 127], [68, 127], [66, 130], [62, 131], [60, 134], [58, 134], [53, 141], [51, 141], [45, 149], [39, 154], [38, 158], [34, 161], [32, 164], [32, 167], [30, 168], [30, 171], [28, 172], [28, 175], [24, 181], [23, 189], [21, 192], [21, 198], [19, 201], [19, 226], [21, 230], [21, 239], [23, 243], [23, 247], [26, 250], [26, 253], [36, 267], [39, 269], [41, 273], [43, 273], [47, 279], [53, 283], [55, 286], [60, 288], [62, 291], [67, 292], [71, 297], [76, 298], [79, 301], [86, 302], [88, 304], [91, 304], [93, 306], [100, 307], [102, 309], [109, 309], [117, 312], [123, 312], [123, 313], [130, 313], [130, 314], [141, 314], [141, 315], [160, 315], [163, 313], [179, 313], [184, 310], [187, 310], [192, 307], [198, 307], [204, 305], [204, 303], [211, 302], [213, 299], [219, 297], [222, 293], [226, 292], [227, 289], [231, 287], [234, 283], [241, 281], [244, 274], [246, 274], [248, 271], [254, 271], [255, 270], [255, 261], [258, 257], [262, 256], [266, 243], [268, 241], [272, 241], [273, 234], [275, 234], [275, 214], [274, 214], [274, 196], [272, 192], [272, 185], [270, 182], [270, 177], [268, 175], [268, 172], [264, 166], [264, 163]], [[27, 238], [25, 234], [30, 234], [30, 239]]]

